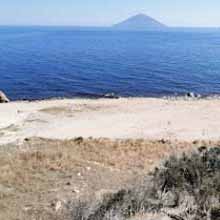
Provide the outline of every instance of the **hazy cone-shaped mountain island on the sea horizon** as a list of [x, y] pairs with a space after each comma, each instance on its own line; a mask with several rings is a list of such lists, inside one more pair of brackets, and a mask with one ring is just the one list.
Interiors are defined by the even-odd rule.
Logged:
[[113, 28], [118, 30], [141, 31], [141, 30], [160, 30], [167, 28], [167, 26], [145, 14], [138, 14], [128, 18], [125, 21], [113, 25]]

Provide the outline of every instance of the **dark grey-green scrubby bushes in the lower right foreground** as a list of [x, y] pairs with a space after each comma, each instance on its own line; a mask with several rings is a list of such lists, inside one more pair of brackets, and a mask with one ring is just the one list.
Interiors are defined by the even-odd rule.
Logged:
[[[174, 220], [220, 219], [220, 148], [172, 156], [142, 184], [79, 202], [74, 220], [124, 220], [162, 213]], [[159, 220], [159, 219], [158, 219]]]

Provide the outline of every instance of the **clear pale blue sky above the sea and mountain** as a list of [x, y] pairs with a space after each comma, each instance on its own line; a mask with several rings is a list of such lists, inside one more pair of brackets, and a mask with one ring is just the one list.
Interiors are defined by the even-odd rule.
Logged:
[[0, 24], [96, 25], [145, 13], [170, 26], [220, 26], [220, 0], [0, 0]]

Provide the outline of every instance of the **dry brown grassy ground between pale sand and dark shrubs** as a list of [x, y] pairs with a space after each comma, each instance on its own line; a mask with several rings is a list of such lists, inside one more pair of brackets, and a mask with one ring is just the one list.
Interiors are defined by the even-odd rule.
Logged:
[[0, 146], [0, 220], [71, 219], [68, 204], [141, 181], [173, 154], [220, 142], [25, 139]]

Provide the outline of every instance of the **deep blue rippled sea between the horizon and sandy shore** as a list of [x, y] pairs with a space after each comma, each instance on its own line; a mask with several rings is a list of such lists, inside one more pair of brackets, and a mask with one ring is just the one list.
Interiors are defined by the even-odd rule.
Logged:
[[0, 90], [12, 100], [219, 95], [220, 29], [0, 27]]

